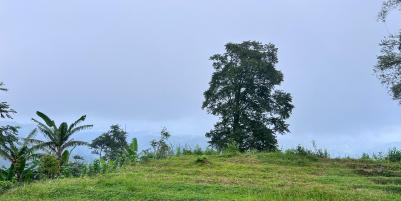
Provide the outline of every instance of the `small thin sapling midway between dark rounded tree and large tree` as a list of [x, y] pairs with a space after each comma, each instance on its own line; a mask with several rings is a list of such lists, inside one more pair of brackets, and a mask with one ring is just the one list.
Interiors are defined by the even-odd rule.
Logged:
[[153, 148], [154, 157], [156, 159], [167, 158], [169, 155], [172, 155], [172, 148], [167, 144], [168, 138], [170, 138], [170, 133], [166, 128], [163, 128], [160, 132], [160, 138], [154, 139], [150, 142], [150, 146]]

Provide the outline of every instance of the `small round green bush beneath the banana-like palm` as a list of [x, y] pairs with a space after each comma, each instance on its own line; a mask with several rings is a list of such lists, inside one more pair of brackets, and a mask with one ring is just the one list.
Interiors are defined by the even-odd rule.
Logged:
[[53, 155], [44, 155], [39, 161], [39, 172], [52, 179], [60, 174], [60, 160]]

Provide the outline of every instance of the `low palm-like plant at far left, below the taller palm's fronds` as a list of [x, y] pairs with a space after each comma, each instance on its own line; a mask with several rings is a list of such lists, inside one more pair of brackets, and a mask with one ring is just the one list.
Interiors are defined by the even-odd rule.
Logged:
[[29, 179], [32, 171], [35, 168], [34, 163], [29, 163], [38, 157], [35, 153], [36, 148], [30, 146], [30, 140], [35, 136], [34, 129], [22, 141], [18, 139], [6, 139], [0, 143], [0, 156], [10, 161], [11, 165], [8, 169], [0, 170], [0, 178], [3, 180], [14, 180], [21, 182]]

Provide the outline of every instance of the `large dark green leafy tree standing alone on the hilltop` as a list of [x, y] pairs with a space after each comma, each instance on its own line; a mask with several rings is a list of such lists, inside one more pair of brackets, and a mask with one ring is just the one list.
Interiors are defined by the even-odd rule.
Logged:
[[289, 131], [285, 120], [294, 107], [291, 95], [276, 88], [283, 81], [275, 68], [277, 48], [245, 41], [225, 49], [210, 58], [214, 73], [204, 92], [202, 108], [220, 118], [206, 134], [209, 143], [218, 149], [229, 143], [241, 151], [277, 149], [276, 135]]

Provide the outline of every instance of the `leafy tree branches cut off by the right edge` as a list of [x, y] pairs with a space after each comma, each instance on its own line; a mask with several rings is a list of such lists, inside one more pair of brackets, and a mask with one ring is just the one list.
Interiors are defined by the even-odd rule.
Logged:
[[[385, 21], [388, 12], [396, 8], [401, 8], [401, 0], [385, 1], [379, 19]], [[380, 47], [381, 53], [374, 71], [389, 88], [393, 98], [401, 103], [401, 31], [382, 40]]]

